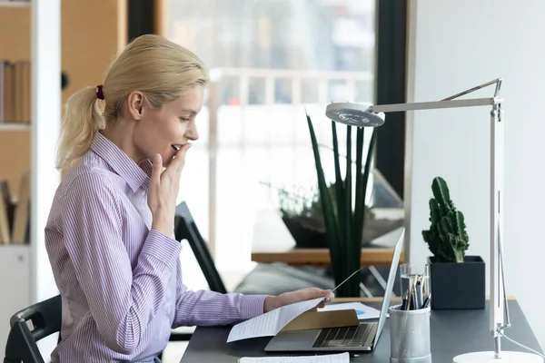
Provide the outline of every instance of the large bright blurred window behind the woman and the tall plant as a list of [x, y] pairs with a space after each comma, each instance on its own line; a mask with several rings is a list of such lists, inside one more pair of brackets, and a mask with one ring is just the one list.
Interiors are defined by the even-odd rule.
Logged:
[[[165, 0], [164, 7], [163, 35], [199, 55], [213, 77], [179, 199], [211, 242], [218, 269], [248, 270], [254, 212], [275, 202], [263, 184], [315, 186], [305, 110], [332, 180], [326, 104], [375, 102], [375, 1]], [[345, 130], [337, 126], [341, 148]]]

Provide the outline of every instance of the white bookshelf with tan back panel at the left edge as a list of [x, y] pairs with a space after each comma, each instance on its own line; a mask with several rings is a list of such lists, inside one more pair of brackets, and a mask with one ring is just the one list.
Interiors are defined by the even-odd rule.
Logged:
[[[20, 163], [26, 163], [25, 169], [31, 171], [29, 239], [25, 244], [0, 245], [0, 296], [8, 297], [0, 299], [2, 349], [9, 317], [18, 309], [58, 293], [45, 251], [44, 229], [61, 180], [60, 172], [54, 168], [54, 146], [61, 123], [60, 28], [60, 0], [0, 0], [0, 59], [26, 59], [31, 65], [29, 123], [0, 123], [1, 140], [18, 137], [24, 141], [8, 147], [7, 142], [0, 142], [1, 154], [14, 155], [0, 157], [0, 162], [23, 155]], [[55, 343], [56, 337], [39, 342], [45, 357]]]

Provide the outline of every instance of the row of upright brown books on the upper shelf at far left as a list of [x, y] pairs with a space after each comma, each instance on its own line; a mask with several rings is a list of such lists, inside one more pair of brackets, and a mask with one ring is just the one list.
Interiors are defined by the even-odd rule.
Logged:
[[0, 123], [30, 123], [30, 61], [0, 60]]

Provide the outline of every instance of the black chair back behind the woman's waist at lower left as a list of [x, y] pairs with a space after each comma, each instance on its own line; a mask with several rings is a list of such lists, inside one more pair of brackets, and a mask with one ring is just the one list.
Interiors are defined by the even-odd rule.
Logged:
[[[61, 296], [20, 310], [10, 319], [4, 363], [45, 363], [36, 341], [61, 330]], [[27, 321], [34, 329], [28, 328]]]

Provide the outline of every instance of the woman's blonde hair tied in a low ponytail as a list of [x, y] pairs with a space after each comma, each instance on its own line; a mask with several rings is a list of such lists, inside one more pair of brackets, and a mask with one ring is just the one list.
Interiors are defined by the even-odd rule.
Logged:
[[183, 46], [155, 34], [145, 34], [117, 56], [104, 79], [104, 107], [97, 88], [86, 86], [67, 100], [57, 145], [56, 167], [71, 167], [88, 152], [94, 133], [107, 123], [123, 120], [129, 93], [140, 91], [153, 108], [178, 98], [196, 84], [208, 83], [203, 62]]

